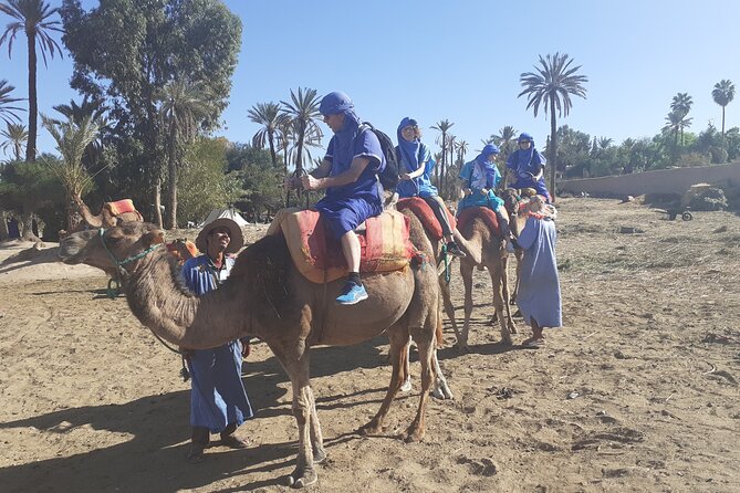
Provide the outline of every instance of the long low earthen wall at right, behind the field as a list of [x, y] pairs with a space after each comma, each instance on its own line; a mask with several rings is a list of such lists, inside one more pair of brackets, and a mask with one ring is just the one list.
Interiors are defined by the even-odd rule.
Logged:
[[740, 188], [740, 162], [697, 168], [658, 169], [614, 177], [563, 180], [561, 192], [594, 196], [642, 196], [645, 193], [684, 193], [692, 185], [712, 183]]

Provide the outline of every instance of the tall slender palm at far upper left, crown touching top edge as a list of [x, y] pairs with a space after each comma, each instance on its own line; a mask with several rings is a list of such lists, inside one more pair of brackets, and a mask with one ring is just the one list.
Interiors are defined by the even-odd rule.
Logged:
[[60, 21], [50, 18], [58, 13], [58, 7], [51, 8], [43, 0], [6, 0], [0, 3], [0, 12], [15, 19], [6, 27], [6, 32], [0, 38], [0, 45], [8, 41], [8, 55], [13, 48], [15, 35], [22, 30], [25, 32], [29, 53], [29, 140], [25, 148], [25, 160], [33, 161], [37, 156], [37, 134], [39, 119], [39, 102], [37, 98], [37, 41], [39, 50], [46, 65], [46, 52], [54, 57], [54, 53], [62, 56], [62, 49], [52, 39], [51, 31], [63, 32]]

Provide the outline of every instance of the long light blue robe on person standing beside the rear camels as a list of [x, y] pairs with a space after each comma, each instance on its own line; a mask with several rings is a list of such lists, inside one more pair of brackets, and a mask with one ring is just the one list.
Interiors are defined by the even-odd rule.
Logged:
[[555, 223], [549, 219], [529, 218], [519, 234], [524, 249], [517, 305], [528, 324], [533, 317], [540, 327], [563, 325], [555, 243]]

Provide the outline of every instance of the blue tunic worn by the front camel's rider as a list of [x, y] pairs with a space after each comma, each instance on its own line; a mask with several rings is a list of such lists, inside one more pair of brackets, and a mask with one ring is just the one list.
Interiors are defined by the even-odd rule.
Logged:
[[[332, 137], [324, 159], [332, 164], [330, 176], [340, 175], [352, 166], [356, 157], [369, 159], [359, 178], [342, 187], [330, 187], [326, 196], [316, 202], [316, 210], [336, 239], [357, 228], [367, 218], [383, 212], [383, 187], [376, 174], [385, 166], [385, 157], [375, 134], [358, 133], [348, 145], [352, 149], [337, 149], [337, 136]], [[351, 151], [347, 151], [351, 150]]]

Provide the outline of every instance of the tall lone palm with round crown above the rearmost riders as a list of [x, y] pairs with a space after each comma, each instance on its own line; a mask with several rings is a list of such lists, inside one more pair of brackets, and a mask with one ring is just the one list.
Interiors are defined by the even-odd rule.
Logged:
[[545, 115], [550, 113], [550, 193], [555, 199], [555, 172], [557, 169], [557, 116], [567, 116], [573, 106], [571, 94], [586, 98], [586, 90], [583, 86], [588, 82], [585, 75], [576, 72], [581, 65], [571, 67], [573, 59], [567, 54], [548, 54], [544, 59], [540, 55], [540, 67], [535, 66], [536, 73], [525, 72], [521, 74], [520, 81], [524, 90], [517, 97], [528, 96], [527, 109], [534, 109], [536, 118], [540, 105], [544, 107]]

